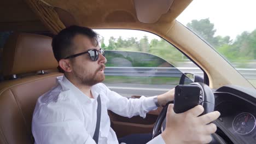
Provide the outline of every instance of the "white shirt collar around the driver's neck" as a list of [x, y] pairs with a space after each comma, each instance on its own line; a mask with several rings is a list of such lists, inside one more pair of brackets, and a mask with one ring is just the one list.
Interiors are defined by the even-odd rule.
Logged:
[[[57, 81], [60, 83], [63, 91], [71, 91], [72, 95], [74, 97], [78, 98], [79, 101], [84, 101], [85, 103], [90, 102], [91, 99], [85, 95], [82, 91], [80, 91], [79, 88], [73, 85], [72, 82], [70, 82], [66, 76], [58, 76]], [[92, 91], [92, 88], [91, 88]], [[95, 99], [97, 99], [98, 94], [95, 92], [92, 92], [92, 95], [94, 95]]]

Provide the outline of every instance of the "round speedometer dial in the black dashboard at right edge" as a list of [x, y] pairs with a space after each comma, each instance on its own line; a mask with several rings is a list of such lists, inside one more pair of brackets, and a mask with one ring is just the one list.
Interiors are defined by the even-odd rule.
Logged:
[[251, 113], [240, 113], [233, 121], [233, 129], [237, 134], [246, 135], [255, 128], [255, 117]]

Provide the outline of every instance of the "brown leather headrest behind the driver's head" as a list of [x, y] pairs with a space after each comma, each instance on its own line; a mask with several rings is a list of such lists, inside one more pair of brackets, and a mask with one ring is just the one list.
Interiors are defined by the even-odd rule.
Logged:
[[3, 75], [56, 69], [57, 61], [51, 47], [52, 38], [27, 33], [10, 35], [3, 49]]

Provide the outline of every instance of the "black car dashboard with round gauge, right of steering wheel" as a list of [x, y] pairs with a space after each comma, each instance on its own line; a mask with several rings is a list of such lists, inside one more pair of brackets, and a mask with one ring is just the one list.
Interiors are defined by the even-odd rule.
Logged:
[[217, 134], [228, 143], [256, 143], [256, 91], [224, 86], [214, 92]]

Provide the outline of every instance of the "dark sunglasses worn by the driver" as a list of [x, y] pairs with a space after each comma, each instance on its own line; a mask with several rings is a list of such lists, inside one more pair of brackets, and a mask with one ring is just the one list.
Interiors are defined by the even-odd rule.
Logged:
[[85, 53], [89, 53], [92, 61], [98, 60], [98, 53], [101, 53], [101, 55], [105, 56], [105, 51], [103, 49], [100, 49], [100, 50], [93, 49], [93, 50], [89, 50], [89, 51], [85, 51], [85, 52], [77, 53], [75, 55], [68, 56], [64, 59], [78, 57], [78, 56], [84, 55]]

